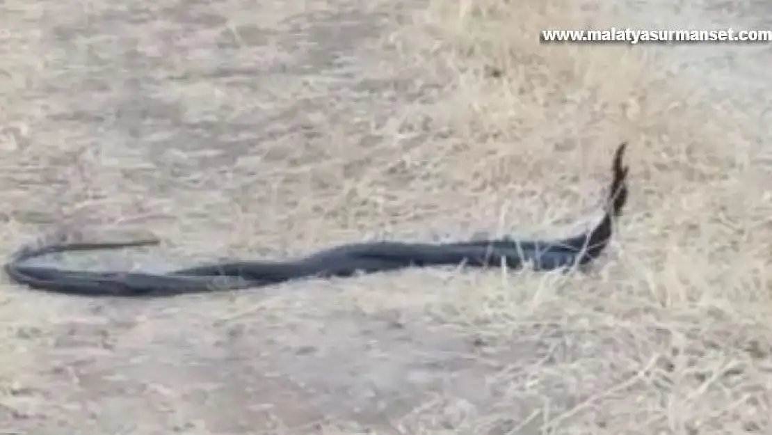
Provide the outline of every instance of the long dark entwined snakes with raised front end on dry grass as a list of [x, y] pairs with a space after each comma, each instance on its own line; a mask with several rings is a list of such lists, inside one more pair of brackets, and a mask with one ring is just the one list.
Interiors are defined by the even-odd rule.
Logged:
[[16, 284], [41, 291], [80, 296], [160, 297], [205, 291], [239, 290], [310, 277], [350, 277], [407, 267], [458, 266], [566, 270], [597, 259], [608, 246], [615, 217], [628, 196], [628, 168], [622, 165], [626, 144], [614, 155], [611, 189], [601, 222], [586, 233], [564, 240], [476, 240], [454, 243], [367, 242], [336, 246], [297, 260], [233, 261], [174, 270], [167, 274], [128, 271], [64, 270], [25, 263], [48, 253], [110, 250], [157, 245], [160, 240], [61, 243], [24, 246], [5, 263]]

